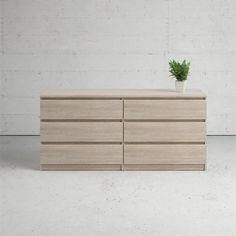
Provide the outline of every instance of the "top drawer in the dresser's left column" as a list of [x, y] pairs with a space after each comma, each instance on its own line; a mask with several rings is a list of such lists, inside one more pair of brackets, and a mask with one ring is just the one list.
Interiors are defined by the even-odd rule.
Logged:
[[121, 100], [44, 100], [41, 119], [122, 119]]

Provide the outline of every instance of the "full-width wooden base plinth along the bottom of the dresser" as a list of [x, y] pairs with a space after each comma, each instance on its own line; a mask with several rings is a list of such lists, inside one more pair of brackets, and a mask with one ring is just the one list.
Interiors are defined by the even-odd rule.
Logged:
[[80, 171], [204, 171], [206, 165], [191, 164], [191, 165], [57, 165], [57, 164], [42, 164], [41, 170], [52, 171], [66, 171], [66, 170], [80, 170]]

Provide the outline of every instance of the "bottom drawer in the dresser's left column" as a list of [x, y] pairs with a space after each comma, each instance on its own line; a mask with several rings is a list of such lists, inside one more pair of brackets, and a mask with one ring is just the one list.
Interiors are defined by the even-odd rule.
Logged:
[[50, 145], [40, 148], [41, 164], [122, 164], [122, 145]]

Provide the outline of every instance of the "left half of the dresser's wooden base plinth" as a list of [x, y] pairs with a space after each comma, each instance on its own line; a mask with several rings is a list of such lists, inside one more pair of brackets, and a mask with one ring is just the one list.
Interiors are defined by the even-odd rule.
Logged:
[[57, 164], [42, 164], [40, 165], [41, 170], [51, 171], [118, 171], [121, 170], [121, 165], [57, 165]]

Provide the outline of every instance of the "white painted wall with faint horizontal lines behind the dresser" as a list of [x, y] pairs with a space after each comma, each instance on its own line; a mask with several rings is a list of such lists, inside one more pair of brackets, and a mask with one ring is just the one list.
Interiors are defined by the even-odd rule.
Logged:
[[49, 88], [174, 88], [191, 61], [208, 133], [236, 134], [235, 0], [1, 0], [0, 134], [39, 134]]

